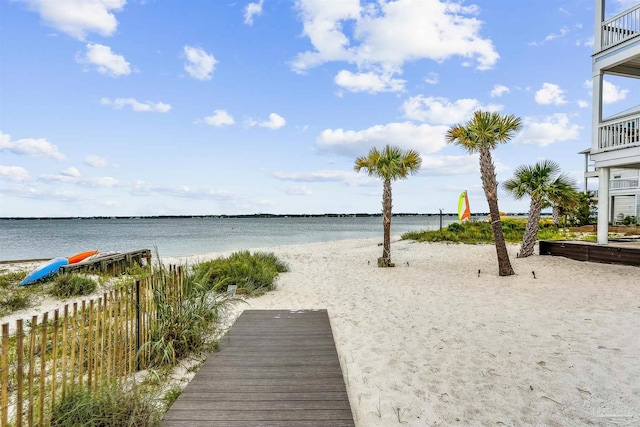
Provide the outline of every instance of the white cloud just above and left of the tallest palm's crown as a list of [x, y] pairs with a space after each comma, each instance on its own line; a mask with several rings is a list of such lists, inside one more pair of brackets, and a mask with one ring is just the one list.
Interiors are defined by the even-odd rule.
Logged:
[[502, 105], [482, 105], [477, 99], [469, 98], [450, 102], [447, 98], [418, 95], [407, 99], [402, 108], [409, 119], [449, 125], [468, 120], [476, 110], [500, 111]]

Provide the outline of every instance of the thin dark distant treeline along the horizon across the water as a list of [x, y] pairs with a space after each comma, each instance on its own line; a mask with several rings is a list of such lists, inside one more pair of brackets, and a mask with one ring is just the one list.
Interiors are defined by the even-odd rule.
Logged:
[[[489, 213], [474, 213], [472, 217], [486, 217]], [[394, 213], [394, 217], [402, 216], [439, 216], [440, 213]], [[443, 212], [444, 216], [457, 216], [454, 212]], [[507, 216], [526, 216], [526, 213], [508, 213]], [[0, 217], [0, 220], [15, 221], [15, 220], [70, 220], [70, 219], [180, 219], [180, 218], [367, 218], [367, 217], [380, 217], [381, 213], [327, 213], [327, 214], [250, 214], [250, 215], [150, 215], [150, 216], [46, 216], [46, 217]]]

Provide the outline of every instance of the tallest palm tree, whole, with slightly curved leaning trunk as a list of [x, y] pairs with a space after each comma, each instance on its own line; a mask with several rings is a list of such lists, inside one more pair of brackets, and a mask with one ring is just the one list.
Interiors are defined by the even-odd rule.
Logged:
[[473, 118], [464, 125], [455, 125], [447, 130], [445, 136], [448, 144], [459, 145], [469, 154], [480, 154], [480, 175], [482, 188], [487, 197], [491, 214], [491, 229], [498, 256], [498, 274], [511, 276], [514, 274], [507, 252], [507, 245], [502, 233], [500, 209], [498, 209], [498, 181], [491, 150], [500, 143], [509, 141], [515, 132], [519, 131], [522, 123], [514, 115], [501, 115], [487, 111], [476, 111]]

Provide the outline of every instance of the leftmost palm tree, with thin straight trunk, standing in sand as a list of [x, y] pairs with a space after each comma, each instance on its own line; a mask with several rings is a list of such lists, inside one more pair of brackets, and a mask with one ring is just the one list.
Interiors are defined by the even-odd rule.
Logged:
[[353, 167], [356, 172], [364, 169], [370, 176], [376, 176], [384, 183], [382, 192], [384, 243], [382, 257], [378, 258], [378, 267], [393, 267], [391, 263], [391, 181], [406, 179], [409, 174], [415, 174], [421, 164], [422, 159], [416, 151], [403, 151], [389, 145], [385, 146], [382, 152], [372, 148], [367, 156], [356, 159]]

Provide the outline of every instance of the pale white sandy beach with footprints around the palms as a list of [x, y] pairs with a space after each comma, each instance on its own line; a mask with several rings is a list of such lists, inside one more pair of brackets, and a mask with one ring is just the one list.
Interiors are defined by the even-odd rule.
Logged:
[[326, 308], [357, 426], [640, 423], [640, 269], [379, 240], [261, 249], [291, 271], [234, 313]]

